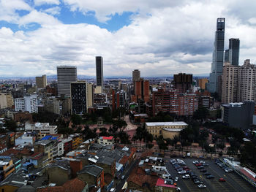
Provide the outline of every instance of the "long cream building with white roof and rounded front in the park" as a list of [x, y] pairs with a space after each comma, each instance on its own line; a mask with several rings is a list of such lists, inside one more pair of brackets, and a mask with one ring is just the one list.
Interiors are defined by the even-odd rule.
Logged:
[[182, 121], [146, 123], [146, 129], [150, 134], [152, 134], [154, 137], [159, 137], [162, 135], [164, 139], [173, 139], [186, 127], [187, 123]]

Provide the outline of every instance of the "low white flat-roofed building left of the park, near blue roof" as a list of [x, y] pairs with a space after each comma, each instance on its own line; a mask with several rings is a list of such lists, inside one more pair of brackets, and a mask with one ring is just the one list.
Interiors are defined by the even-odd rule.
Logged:
[[58, 134], [57, 126], [50, 126], [49, 123], [25, 123], [26, 131], [39, 131], [41, 134]]

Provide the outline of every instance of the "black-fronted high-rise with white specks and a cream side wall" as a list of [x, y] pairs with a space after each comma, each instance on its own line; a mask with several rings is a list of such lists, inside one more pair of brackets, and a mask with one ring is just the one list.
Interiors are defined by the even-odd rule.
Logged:
[[71, 112], [83, 115], [93, 106], [93, 85], [86, 81], [71, 82]]

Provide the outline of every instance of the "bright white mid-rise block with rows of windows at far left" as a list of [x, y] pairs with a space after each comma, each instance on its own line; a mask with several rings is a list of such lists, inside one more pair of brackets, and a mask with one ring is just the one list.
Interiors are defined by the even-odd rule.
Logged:
[[37, 94], [15, 99], [15, 111], [38, 112]]

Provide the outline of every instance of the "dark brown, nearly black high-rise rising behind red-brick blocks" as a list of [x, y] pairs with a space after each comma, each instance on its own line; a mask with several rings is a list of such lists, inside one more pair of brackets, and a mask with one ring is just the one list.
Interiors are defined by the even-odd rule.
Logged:
[[179, 93], [186, 93], [187, 91], [191, 91], [193, 75], [185, 73], [174, 74], [173, 81]]

